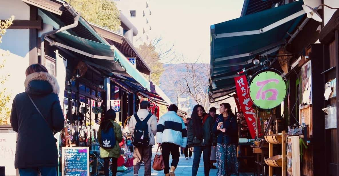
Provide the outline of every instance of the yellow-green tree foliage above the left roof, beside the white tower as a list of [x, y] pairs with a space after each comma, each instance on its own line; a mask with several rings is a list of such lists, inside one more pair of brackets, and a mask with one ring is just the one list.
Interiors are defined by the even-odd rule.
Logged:
[[111, 30], [119, 30], [120, 13], [110, 0], [66, 0], [87, 21]]

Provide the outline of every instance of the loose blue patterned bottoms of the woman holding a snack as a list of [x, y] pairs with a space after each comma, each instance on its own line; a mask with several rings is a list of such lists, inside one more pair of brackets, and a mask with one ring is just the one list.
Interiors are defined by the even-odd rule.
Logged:
[[236, 145], [226, 145], [225, 138], [222, 144], [217, 145], [217, 176], [229, 176], [238, 173], [238, 159]]

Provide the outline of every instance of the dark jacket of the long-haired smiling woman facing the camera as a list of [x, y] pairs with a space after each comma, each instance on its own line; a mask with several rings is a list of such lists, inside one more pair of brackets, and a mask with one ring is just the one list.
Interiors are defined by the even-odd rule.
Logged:
[[213, 128], [213, 118], [211, 116], [208, 116], [205, 123], [202, 126], [203, 129], [203, 139], [199, 140], [194, 135], [194, 124], [193, 120], [191, 119], [188, 123], [188, 129], [187, 129], [187, 146], [215, 146], [216, 145], [216, 137], [212, 133]]

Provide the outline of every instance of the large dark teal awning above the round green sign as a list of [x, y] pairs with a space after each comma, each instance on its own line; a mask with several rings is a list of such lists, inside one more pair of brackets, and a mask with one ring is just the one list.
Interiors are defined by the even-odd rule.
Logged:
[[286, 44], [305, 13], [297, 1], [211, 25], [211, 98], [234, 92], [234, 77], [243, 68], [260, 69], [256, 55], [274, 54]]

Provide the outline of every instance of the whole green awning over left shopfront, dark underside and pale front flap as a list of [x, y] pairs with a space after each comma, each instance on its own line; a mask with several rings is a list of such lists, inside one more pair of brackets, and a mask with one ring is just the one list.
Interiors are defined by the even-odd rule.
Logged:
[[127, 74], [131, 76], [131, 78], [135, 79], [145, 89], [150, 89], [148, 80], [125, 58], [125, 56], [123, 56], [123, 54], [115, 46], [105, 45], [61, 32], [53, 35], [52, 38], [55, 41], [51, 41], [48, 38], [46, 40], [52, 45], [72, 50], [90, 58], [101, 59], [101, 66], [103, 67], [112, 65], [112, 63], [107, 62], [119, 63], [123, 70], [125, 70]]

